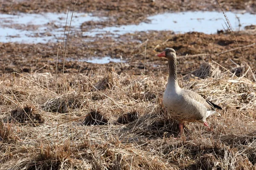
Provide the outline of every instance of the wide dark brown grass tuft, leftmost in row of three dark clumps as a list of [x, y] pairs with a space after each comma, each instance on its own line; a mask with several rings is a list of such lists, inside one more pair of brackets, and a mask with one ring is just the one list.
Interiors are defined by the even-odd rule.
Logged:
[[44, 123], [44, 118], [33, 105], [18, 106], [15, 110], [12, 110], [11, 120], [12, 122], [31, 123], [33, 125]]

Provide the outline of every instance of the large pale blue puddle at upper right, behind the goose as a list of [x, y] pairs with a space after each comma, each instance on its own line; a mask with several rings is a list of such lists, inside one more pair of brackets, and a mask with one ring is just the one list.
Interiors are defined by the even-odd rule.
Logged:
[[[249, 13], [225, 12], [230, 21], [233, 31], [244, 29], [244, 26], [256, 24], [256, 15]], [[237, 19], [240, 20], [240, 23]], [[140, 23], [139, 25], [128, 25], [120, 27], [105, 27], [85, 32], [84, 35], [96, 36], [97, 34], [126, 34], [135, 31], [174, 31], [175, 33], [186, 33], [190, 31], [215, 34], [217, 30], [227, 28], [222, 12], [215, 11], [186, 11], [177, 13], [157, 14], [147, 18], [151, 23]], [[240, 24], [240, 26], [239, 26]]]

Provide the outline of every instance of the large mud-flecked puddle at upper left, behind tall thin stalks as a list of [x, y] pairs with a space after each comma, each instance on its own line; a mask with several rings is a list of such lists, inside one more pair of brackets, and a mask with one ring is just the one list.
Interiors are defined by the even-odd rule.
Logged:
[[[24, 42], [24, 43], [46, 43], [57, 41], [63, 37], [64, 27], [70, 24], [71, 14], [68, 20], [65, 13], [43, 13], [43, 14], [0, 14], [0, 42]], [[102, 20], [104, 17], [93, 17], [91, 14], [74, 13], [71, 24], [71, 32], [80, 31], [80, 26], [86, 21]], [[66, 34], [67, 34], [66, 30]]]

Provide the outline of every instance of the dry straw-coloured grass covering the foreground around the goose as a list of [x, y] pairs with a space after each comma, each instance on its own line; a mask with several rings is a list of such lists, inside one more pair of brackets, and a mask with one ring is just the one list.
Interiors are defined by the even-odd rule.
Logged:
[[162, 105], [166, 74], [64, 74], [65, 91], [56, 91], [62, 77], [16, 74], [11, 85], [10, 76], [1, 84], [0, 169], [255, 169], [256, 84], [235, 72], [204, 63], [179, 80], [223, 111], [208, 119], [211, 132], [186, 123], [178, 139]]

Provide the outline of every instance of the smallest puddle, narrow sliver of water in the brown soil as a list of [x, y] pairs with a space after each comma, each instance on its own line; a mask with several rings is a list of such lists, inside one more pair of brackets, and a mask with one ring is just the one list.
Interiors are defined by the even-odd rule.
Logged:
[[[72, 59], [67, 58], [67, 61], [79, 61], [79, 62], [90, 62], [94, 64], [107, 64], [109, 62], [121, 62], [119, 58], [111, 58], [111, 57], [94, 57], [93, 59]], [[125, 62], [122, 60], [122, 62]]]

